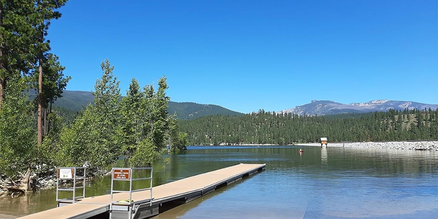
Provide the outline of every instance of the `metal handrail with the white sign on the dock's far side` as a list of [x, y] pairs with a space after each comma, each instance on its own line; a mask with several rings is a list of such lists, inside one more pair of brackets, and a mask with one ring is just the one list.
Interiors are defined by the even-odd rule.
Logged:
[[[61, 169], [63, 169], [63, 172], [65, 172], [65, 176], [61, 176]], [[83, 170], [83, 175], [77, 176], [77, 170], [82, 169]], [[69, 171], [71, 171], [69, 173]], [[63, 202], [76, 202], [77, 199], [83, 199], [85, 198], [85, 172], [86, 172], [86, 168], [85, 167], [58, 167], [57, 168], [57, 175], [56, 175], [56, 201], [63, 201]], [[73, 187], [70, 188], [60, 188], [59, 185], [59, 181], [60, 180], [73, 180]], [[82, 186], [76, 186], [76, 183], [78, 180], [82, 180]], [[77, 196], [76, 197], [76, 189], [83, 189], [82, 190], [82, 196]], [[72, 196], [72, 200], [68, 200], [68, 199], [59, 199], [59, 191], [71, 191], [73, 192], [73, 196]]]

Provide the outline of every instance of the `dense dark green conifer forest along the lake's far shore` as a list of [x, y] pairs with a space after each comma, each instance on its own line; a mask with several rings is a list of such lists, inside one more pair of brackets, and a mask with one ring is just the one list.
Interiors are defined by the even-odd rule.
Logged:
[[243, 116], [181, 120], [191, 145], [238, 145], [438, 139], [437, 110], [389, 110], [361, 114], [298, 116], [259, 110]]

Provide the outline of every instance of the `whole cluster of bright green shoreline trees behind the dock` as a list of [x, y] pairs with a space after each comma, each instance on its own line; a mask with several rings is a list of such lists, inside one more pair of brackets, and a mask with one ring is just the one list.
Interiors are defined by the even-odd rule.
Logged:
[[[103, 75], [95, 84], [94, 105], [89, 104], [59, 136], [49, 138], [58, 147], [53, 156], [58, 165], [90, 164], [104, 169], [118, 157], [131, 166], [145, 166], [165, 149], [169, 124], [165, 77], [159, 89], [147, 85], [144, 91], [132, 79], [126, 97], [121, 98], [119, 81], [113, 76], [110, 62], [102, 62]], [[127, 163], [126, 163], [127, 164]]]

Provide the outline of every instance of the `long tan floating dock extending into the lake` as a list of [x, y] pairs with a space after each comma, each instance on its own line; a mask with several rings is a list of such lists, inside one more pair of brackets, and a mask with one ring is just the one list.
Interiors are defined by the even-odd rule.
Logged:
[[[149, 218], [174, 206], [213, 192], [229, 183], [234, 183], [251, 174], [260, 172], [265, 167], [266, 164], [237, 164], [155, 187], [150, 186], [150, 188], [139, 190], [131, 189], [130, 192], [112, 191], [111, 182], [111, 194], [109, 195], [82, 198], [76, 202], [73, 201], [73, 203], [58, 200], [59, 207], [28, 215], [21, 219]], [[123, 178], [124, 175], [121, 174], [116, 177], [113, 169], [113, 180], [117, 180], [115, 178], [120, 178], [119, 176]], [[131, 183], [132, 180], [135, 180], [130, 176], [128, 178], [130, 178]], [[151, 178], [144, 179], [150, 179], [151, 182]]]

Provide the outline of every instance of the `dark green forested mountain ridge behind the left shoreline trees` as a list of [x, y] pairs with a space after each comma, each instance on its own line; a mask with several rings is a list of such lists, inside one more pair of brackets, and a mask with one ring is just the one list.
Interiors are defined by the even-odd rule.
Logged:
[[[69, 110], [80, 111], [92, 103], [94, 99], [90, 91], [63, 91], [62, 97], [58, 98], [55, 105]], [[205, 115], [243, 115], [243, 113], [225, 109], [212, 104], [178, 103], [169, 101], [167, 103], [169, 114], [177, 113], [177, 119], [196, 119]]]

